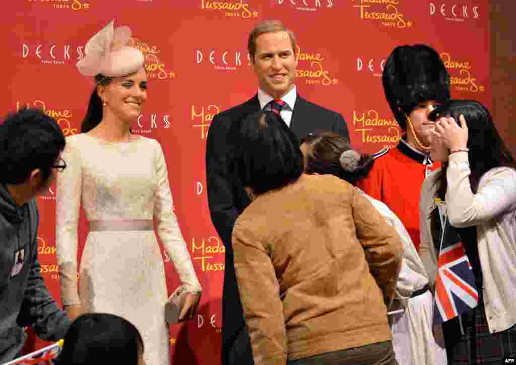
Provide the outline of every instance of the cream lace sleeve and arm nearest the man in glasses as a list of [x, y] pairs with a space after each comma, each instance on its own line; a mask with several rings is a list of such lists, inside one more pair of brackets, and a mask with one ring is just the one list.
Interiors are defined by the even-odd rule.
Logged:
[[77, 225], [82, 174], [78, 152], [72, 140], [62, 153], [67, 167], [57, 177], [56, 187], [56, 253], [63, 305], [80, 305], [77, 292]]

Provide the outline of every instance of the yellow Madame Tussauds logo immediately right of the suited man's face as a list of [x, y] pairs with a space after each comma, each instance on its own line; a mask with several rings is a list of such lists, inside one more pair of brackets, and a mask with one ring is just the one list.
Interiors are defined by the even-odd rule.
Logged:
[[305, 78], [309, 85], [336, 85], [338, 79], [330, 75], [324, 67], [325, 57], [321, 53], [301, 52], [296, 45], [296, 59], [298, 67], [296, 77]]

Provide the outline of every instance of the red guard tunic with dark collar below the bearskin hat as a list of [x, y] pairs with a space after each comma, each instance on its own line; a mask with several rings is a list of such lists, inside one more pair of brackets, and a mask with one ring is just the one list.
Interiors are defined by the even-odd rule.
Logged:
[[419, 202], [421, 185], [427, 174], [439, 168], [430, 155], [420, 152], [401, 139], [396, 148], [375, 155], [375, 164], [357, 186], [384, 202], [401, 219], [419, 252]]

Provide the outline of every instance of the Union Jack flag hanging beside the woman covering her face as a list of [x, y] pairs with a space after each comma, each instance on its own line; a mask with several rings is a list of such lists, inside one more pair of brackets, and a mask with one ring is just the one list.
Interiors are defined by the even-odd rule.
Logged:
[[[440, 213], [442, 212], [439, 209]], [[441, 214], [440, 214], [441, 215]], [[478, 304], [475, 275], [464, 246], [448, 218], [441, 216], [442, 238], [436, 279], [434, 322], [446, 322]]]

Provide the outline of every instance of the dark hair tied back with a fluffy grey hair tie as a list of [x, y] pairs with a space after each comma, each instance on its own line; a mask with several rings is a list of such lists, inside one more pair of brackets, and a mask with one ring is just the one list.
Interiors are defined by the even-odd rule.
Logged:
[[305, 173], [332, 174], [355, 185], [373, 167], [373, 156], [353, 151], [349, 140], [335, 133], [310, 135], [303, 140], [308, 147]]

